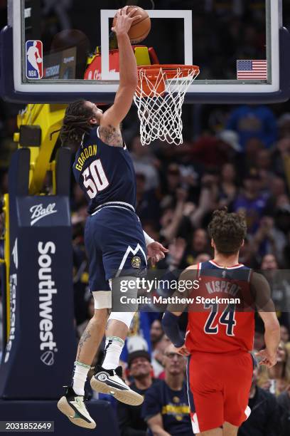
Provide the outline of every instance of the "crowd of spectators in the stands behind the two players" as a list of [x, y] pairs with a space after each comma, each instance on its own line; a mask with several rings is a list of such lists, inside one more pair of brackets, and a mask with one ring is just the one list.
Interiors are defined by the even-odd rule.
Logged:
[[[12, 135], [19, 108], [2, 104], [7, 108], [2, 110], [1, 130], [1, 194], [4, 194], [8, 186], [7, 166], [16, 147]], [[249, 398], [253, 412], [240, 435], [284, 436], [289, 434], [290, 422], [288, 103], [211, 108], [211, 115], [223, 113], [224, 123], [219, 128], [210, 125], [212, 118], [208, 118], [208, 123], [200, 124], [201, 134], [190, 139], [185, 124], [183, 145], [156, 141], [148, 147], [141, 146], [136, 110], [132, 108], [122, 131], [136, 170], [136, 212], [144, 230], [169, 249], [166, 258], [155, 267], [164, 271], [182, 270], [213, 256], [207, 226], [214, 209], [226, 205], [230, 212], [246, 215], [248, 234], [240, 262], [262, 270], [267, 276], [282, 335], [277, 365], [273, 370], [255, 371]], [[208, 107], [201, 110], [208, 111]], [[73, 178], [71, 209], [75, 325], [76, 336], [80, 338], [92, 316], [93, 303], [83, 242], [87, 202]], [[3, 225], [3, 217], [1, 222]], [[112, 404], [122, 435], [144, 435], [147, 427], [154, 435], [154, 431], [158, 433], [154, 429], [162, 426], [170, 435], [191, 434], [183, 385], [186, 362], [171, 351], [160, 318], [161, 313], [139, 312], [131, 325], [122, 364], [128, 382], [134, 383], [136, 390], [146, 391], [146, 399], [144, 406], [134, 413], [124, 405]], [[257, 319], [255, 349], [260, 350], [263, 341], [262, 326]], [[95, 362], [101, 360], [102, 347]], [[176, 426], [177, 422], [184, 425]]]

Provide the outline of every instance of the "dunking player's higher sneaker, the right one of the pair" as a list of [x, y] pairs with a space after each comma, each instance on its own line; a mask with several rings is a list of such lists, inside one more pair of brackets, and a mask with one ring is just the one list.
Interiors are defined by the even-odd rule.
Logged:
[[97, 365], [90, 385], [97, 392], [113, 395], [114, 398], [125, 404], [139, 405], [144, 401], [142, 395], [131, 390], [122, 379], [122, 366], [118, 366], [114, 370], [107, 370]]

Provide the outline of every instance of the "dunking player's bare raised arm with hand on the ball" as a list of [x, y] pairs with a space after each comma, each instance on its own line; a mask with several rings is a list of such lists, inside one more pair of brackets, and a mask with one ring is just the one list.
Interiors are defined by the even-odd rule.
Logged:
[[[119, 88], [114, 99], [114, 104], [106, 110], [100, 122], [100, 135], [104, 137], [104, 142], [112, 140], [112, 132], [119, 130], [119, 123], [127, 115], [133, 101], [134, 92], [137, 85], [137, 66], [134, 51], [131, 48], [128, 31], [131, 24], [139, 19], [140, 16], [131, 16], [135, 9], [128, 12], [128, 6], [119, 9], [117, 19], [112, 30], [117, 35], [119, 47], [119, 73], [120, 82]], [[111, 134], [106, 135], [106, 128], [112, 130]], [[114, 145], [114, 144], [112, 144]]]

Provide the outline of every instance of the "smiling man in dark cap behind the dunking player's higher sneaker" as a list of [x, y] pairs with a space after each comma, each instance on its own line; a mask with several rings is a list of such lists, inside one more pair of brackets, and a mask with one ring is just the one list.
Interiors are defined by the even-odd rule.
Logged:
[[[152, 383], [150, 355], [144, 350], [134, 351], [128, 356], [129, 377], [133, 378], [130, 387], [140, 395], [145, 395]], [[117, 415], [122, 436], [145, 436], [147, 425], [141, 417], [142, 405], [132, 406], [117, 403]]]

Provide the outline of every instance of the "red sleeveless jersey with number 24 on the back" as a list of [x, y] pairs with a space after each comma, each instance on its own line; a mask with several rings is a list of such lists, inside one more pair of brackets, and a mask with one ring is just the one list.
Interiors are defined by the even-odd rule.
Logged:
[[214, 261], [198, 264], [199, 288], [190, 293], [186, 348], [205, 353], [252, 351], [254, 301], [251, 269], [224, 268]]

